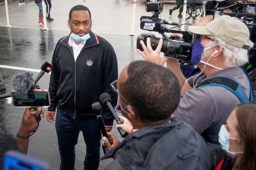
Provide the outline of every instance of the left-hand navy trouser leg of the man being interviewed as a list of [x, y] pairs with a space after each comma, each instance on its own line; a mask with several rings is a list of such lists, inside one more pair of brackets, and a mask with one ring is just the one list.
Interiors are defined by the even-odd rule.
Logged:
[[73, 170], [75, 166], [75, 145], [79, 135], [75, 119], [63, 115], [57, 108], [55, 128], [60, 152], [60, 170]]

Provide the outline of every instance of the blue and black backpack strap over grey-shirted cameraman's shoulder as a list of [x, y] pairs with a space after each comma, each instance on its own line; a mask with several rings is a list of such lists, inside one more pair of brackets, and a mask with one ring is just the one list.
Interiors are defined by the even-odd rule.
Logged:
[[252, 102], [252, 101], [249, 101], [243, 87], [239, 83], [237, 83], [237, 81], [234, 80], [233, 78], [225, 77], [225, 76], [213, 77], [199, 83], [196, 88], [205, 87], [205, 86], [224, 87], [229, 91], [231, 91], [233, 94], [235, 94], [241, 103]]

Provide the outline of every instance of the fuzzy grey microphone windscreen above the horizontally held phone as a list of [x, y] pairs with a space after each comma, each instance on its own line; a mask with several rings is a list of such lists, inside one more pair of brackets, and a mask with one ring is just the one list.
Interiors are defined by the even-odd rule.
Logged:
[[33, 86], [34, 79], [32, 77], [32, 72], [24, 71], [18, 74], [15, 74], [12, 77], [12, 86], [13, 90], [19, 94], [27, 93], [30, 88]]

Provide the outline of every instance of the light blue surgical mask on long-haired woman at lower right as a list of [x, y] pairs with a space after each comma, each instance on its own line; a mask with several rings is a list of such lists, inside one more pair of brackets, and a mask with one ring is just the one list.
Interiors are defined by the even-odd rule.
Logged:
[[244, 152], [231, 152], [229, 150], [229, 146], [230, 146], [229, 139], [239, 140], [237, 138], [230, 137], [230, 134], [228, 133], [227, 128], [225, 127], [224, 124], [222, 124], [219, 132], [219, 142], [220, 142], [221, 148], [227, 151], [228, 156], [230, 156], [231, 158], [235, 158], [236, 154], [244, 153]]

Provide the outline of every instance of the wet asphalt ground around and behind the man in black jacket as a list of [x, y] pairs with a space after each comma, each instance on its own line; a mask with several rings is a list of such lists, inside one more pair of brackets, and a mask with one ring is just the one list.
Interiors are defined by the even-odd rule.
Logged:
[[[61, 37], [69, 34], [67, 19], [70, 8], [83, 4], [82, 0], [52, 1], [51, 17], [54, 21], [47, 22], [51, 30], [41, 30], [43, 27], [37, 25], [38, 8], [34, 1], [27, 2], [21, 7], [17, 5], [19, 1], [9, 4], [10, 24], [14, 28], [5, 28], [5, 10], [4, 6], [0, 6], [0, 73], [6, 84], [6, 91], [1, 91], [0, 94], [10, 93], [12, 76], [22, 72], [19, 69], [2, 68], [1, 65], [40, 69], [45, 61], [51, 63], [56, 43]], [[172, 17], [169, 15], [169, 8], [175, 6], [175, 1], [162, 2], [164, 2], [162, 18], [181, 23], [177, 17], [178, 10], [173, 12]], [[117, 55], [119, 73], [131, 61], [143, 59], [136, 51], [137, 36], [128, 35], [131, 28], [132, 3], [129, 0], [97, 0], [97, 2], [86, 0], [86, 5], [92, 12], [92, 31], [105, 38], [113, 46]], [[140, 30], [140, 16], [152, 15], [145, 11], [145, 3], [146, 1], [143, 0], [137, 1], [134, 27], [136, 35], [147, 32]], [[191, 19], [187, 22], [195, 23]], [[157, 33], [154, 34], [157, 35]], [[37, 75], [37, 72], [33, 72], [34, 78]], [[38, 85], [41, 89], [48, 89], [49, 80], [50, 74], [45, 74], [38, 81]], [[15, 108], [12, 104], [7, 104], [6, 99], [0, 99], [0, 132], [16, 136], [24, 110], [24, 108]], [[47, 109], [43, 110], [46, 114]], [[122, 140], [115, 124], [112, 132]], [[76, 145], [76, 169], [83, 169], [85, 147], [83, 136], [80, 134]], [[37, 132], [30, 137], [28, 155], [46, 161], [53, 169], [59, 169], [60, 156], [54, 123], [49, 123], [46, 119], [40, 121]], [[104, 169], [111, 161], [112, 159], [101, 160], [99, 169]]]

